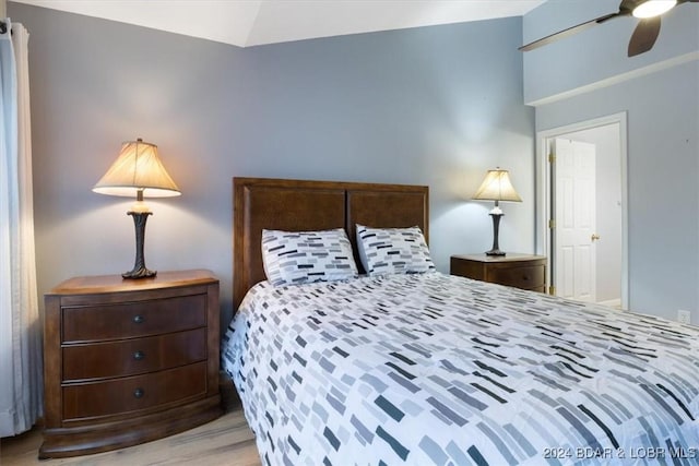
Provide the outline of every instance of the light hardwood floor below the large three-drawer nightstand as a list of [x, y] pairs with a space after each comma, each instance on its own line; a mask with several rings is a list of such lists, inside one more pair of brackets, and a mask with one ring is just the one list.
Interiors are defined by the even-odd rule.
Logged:
[[240, 402], [229, 393], [223, 395], [226, 414], [216, 420], [154, 442], [95, 455], [39, 462], [42, 432], [34, 428], [17, 437], [0, 439], [0, 465], [260, 465], [254, 437], [245, 420]]

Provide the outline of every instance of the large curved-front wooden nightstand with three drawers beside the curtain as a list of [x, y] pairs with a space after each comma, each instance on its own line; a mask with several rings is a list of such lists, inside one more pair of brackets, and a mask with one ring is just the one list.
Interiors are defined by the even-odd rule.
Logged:
[[76, 277], [45, 302], [39, 458], [135, 445], [221, 416], [211, 272]]

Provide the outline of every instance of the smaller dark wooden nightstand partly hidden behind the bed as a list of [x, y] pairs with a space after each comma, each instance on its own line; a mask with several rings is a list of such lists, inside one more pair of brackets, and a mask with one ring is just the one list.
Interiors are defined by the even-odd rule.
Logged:
[[452, 255], [452, 275], [545, 292], [546, 258], [508, 253], [507, 255]]

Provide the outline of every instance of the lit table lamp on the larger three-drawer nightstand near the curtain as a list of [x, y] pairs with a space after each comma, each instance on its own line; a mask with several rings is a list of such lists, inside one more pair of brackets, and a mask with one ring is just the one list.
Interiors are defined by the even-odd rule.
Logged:
[[143, 241], [145, 220], [152, 214], [143, 198], [170, 198], [180, 195], [175, 181], [165, 170], [157, 155], [157, 146], [143, 140], [125, 142], [117, 160], [92, 189], [99, 194], [135, 196], [135, 204], [127, 212], [133, 216], [135, 227], [135, 264], [121, 274], [123, 278], [147, 278], [157, 274], [145, 267]]

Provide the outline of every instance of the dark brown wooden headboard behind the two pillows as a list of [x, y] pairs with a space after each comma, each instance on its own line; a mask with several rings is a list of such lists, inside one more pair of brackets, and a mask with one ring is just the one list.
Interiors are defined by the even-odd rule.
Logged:
[[[378, 228], [419, 226], [429, 240], [425, 186], [273, 178], [233, 179], [233, 302], [265, 279], [262, 229], [312, 231], [344, 228], [355, 260], [356, 224]], [[362, 264], [357, 260], [357, 266]]]

